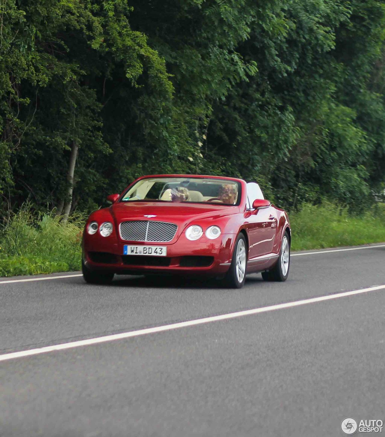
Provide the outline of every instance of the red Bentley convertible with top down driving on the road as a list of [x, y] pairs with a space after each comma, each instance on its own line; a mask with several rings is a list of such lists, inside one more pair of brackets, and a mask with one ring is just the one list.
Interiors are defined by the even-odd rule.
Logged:
[[248, 273], [285, 281], [290, 224], [255, 182], [162, 174], [135, 180], [107, 198], [83, 233], [83, 275], [108, 283], [114, 274], [206, 275], [241, 288]]

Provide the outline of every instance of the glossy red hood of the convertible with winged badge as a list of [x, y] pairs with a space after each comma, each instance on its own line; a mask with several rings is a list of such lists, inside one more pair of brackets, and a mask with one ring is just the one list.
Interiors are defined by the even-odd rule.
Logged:
[[[202, 218], [219, 218], [237, 212], [237, 206], [205, 205], [198, 203], [166, 203], [166, 202], [118, 202], [110, 206], [110, 212], [119, 225], [126, 220], [153, 220], [178, 225], [178, 234], [192, 220]], [[153, 215], [154, 217], [144, 217]]]

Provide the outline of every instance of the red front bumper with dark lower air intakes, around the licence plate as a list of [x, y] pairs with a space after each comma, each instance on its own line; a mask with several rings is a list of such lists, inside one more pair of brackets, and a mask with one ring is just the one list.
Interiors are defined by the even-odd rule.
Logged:
[[[182, 234], [173, 244], [138, 243], [84, 235], [83, 262], [93, 271], [116, 274], [182, 274], [218, 276], [230, 267], [234, 234], [223, 234], [215, 240], [205, 236], [190, 241]], [[167, 246], [167, 257], [123, 255], [123, 246]], [[152, 265], [152, 264], [158, 265]], [[166, 265], [159, 265], [166, 264]]]

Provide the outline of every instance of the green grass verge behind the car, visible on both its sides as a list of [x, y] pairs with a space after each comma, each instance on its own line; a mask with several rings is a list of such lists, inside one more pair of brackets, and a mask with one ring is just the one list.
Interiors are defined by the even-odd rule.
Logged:
[[[290, 214], [292, 250], [385, 242], [385, 204], [362, 216], [330, 203], [303, 205]], [[0, 231], [0, 276], [80, 269], [84, 217], [63, 224], [52, 214], [34, 216], [26, 205]]]

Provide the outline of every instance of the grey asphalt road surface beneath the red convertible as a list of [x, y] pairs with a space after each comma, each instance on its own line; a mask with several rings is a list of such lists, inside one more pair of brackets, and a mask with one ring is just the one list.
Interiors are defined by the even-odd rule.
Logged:
[[[343, 436], [346, 417], [385, 422], [385, 288], [336, 295], [384, 284], [384, 246], [298, 253], [285, 283], [254, 274], [241, 290], [142, 277], [0, 283], [0, 360], [21, 351], [0, 361], [0, 436], [324, 437]], [[331, 298], [295, 306], [319, 296]], [[23, 356], [156, 326], [166, 330]]]

